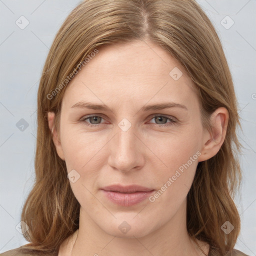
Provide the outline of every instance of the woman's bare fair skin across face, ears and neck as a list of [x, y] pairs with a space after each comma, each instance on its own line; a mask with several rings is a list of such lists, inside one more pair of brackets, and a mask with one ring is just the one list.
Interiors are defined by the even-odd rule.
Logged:
[[[174, 67], [183, 72], [177, 80], [169, 74]], [[68, 172], [74, 169], [80, 175], [70, 182], [80, 203], [78, 236], [76, 241], [77, 232], [68, 237], [58, 256], [203, 255], [187, 233], [186, 195], [197, 163], [214, 156], [222, 145], [228, 111], [217, 108], [210, 119], [213, 134], [204, 130], [192, 86], [166, 51], [140, 40], [100, 48], [72, 78], [62, 100], [60, 130], [52, 127], [54, 113], [48, 112], [59, 157]], [[105, 104], [107, 109], [72, 107], [79, 101]], [[170, 101], [186, 109], [140, 110]], [[80, 120], [88, 115], [98, 117]], [[120, 123], [131, 126], [124, 131]], [[170, 177], [173, 182], [167, 186]], [[122, 206], [102, 193], [100, 188], [110, 184], [137, 184], [155, 191], [165, 184], [166, 189], [154, 201]], [[118, 228], [123, 221], [130, 227], [126, 233]], [[197, 242], [207, 255], [209, 245]]]

